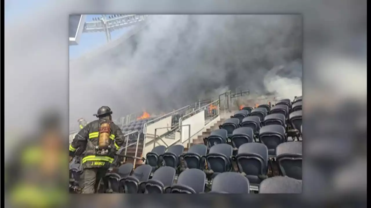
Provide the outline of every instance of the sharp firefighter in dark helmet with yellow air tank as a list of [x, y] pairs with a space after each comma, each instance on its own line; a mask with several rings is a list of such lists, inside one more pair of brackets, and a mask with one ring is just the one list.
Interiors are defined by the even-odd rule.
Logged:
[[[70, 161], [76, 150], [83, 148], [81, 160], [83, 173], [80, 184], [82, 194], [93, 194], [99, 181], [106, 174], [109, 165], [114, 161], [115, 152], [124, 144], [124, 134], [112, 122], [112, 111], [107, 106], [98, 109], [94, 114], [98, 120], [92, 121], [76, 134], [69, 146]], [[76, 155], [80, 156], [80, 155]]]

